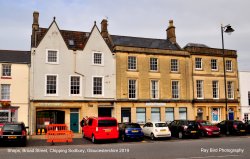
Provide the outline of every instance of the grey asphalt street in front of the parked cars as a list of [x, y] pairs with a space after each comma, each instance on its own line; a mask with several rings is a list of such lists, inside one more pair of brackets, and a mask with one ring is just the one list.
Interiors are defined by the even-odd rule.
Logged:
[[0, 156], [4, 156], [4, 159], [247, 159], [250, 158], [249, 145], [250, 136], [157, 141], [145, 139], [142, 142], [99, 144], [78, 138], [73, 143], [56, 143], [53, 146], [45, 140], [32, 140], [27, 147], [1, 147]]

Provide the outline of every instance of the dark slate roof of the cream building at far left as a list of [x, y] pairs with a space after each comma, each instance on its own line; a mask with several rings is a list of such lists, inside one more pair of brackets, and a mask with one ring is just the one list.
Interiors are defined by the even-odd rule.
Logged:
[[0, 50], [0, 62], [30, 64], [30, 51]]

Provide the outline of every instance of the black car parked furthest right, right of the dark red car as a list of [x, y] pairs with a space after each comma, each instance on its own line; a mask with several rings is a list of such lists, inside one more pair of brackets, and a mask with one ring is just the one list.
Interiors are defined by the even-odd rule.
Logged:
[[217, 124], [220, 132], [226, 135], [246, 134], [246, 125], [239, 120], [224, 120]]

